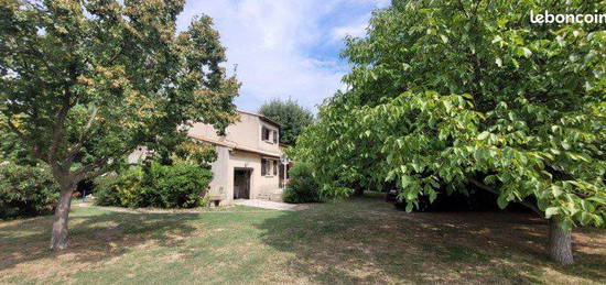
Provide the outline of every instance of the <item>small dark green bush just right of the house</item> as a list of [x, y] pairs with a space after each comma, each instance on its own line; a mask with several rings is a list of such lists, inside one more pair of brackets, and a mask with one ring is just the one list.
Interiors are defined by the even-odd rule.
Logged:
[[320, 185], [313, 177], [312, 167], [306, 163], [296, 163], [290, 169], [290, 182], [284, 189], [282, 199], [285, 202], [316, 202], [321, 201]]

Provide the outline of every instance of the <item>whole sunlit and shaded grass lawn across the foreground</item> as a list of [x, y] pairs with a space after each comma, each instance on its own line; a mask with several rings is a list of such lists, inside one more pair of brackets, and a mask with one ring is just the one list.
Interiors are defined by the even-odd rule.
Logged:
[[71, 248], [51, 217], [0, 222], [0, 283], [606, 283], [606, 232], [577, 230], [577, 264], [544, 256], [522, 213], [405, 213], [380, 197], [302, 211], [74, 207]]

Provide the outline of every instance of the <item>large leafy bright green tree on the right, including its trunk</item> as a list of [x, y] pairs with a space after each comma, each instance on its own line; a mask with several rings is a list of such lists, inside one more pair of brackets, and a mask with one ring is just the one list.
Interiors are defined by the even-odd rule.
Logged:
[[572, 227], [606, 218], [606, 31], [530, 23], [545, 10], [606, 2], [392, 1], [347, 40], [350, 88], [324, 103], [296, 158], [324, 195], [370, 173], [398, 184], [409, 211], [467, 187], [522, 202], [549, 219], [551, 257], [573, 263]]

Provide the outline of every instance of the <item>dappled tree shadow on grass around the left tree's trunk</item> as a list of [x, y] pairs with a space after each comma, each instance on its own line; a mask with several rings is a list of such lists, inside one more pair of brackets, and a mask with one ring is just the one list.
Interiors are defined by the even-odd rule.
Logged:
[[0, 224], [0, 272], [21, 263], [62, 256], [68, 256], [75, 264], [94, 264], [147, 243], [180, 246], [183, 237], [196, 230], [187, 221], [197, 218], [195, 213], [73, 216], [69, 219], [69, 248], [59, 252], [48, 249], [52, 216]]

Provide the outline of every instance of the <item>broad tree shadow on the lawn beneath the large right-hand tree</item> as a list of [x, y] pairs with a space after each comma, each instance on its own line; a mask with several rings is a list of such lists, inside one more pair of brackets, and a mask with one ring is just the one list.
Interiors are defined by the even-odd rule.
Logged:
[[[257, 226], [262, 241], [296, 256], [288, 274], [313, 283], [541, 283], [606, 281], [606, 251], [587, 252], [575, 233], [574, 266], [545, 257], [547, 223], [524, 213], [394, 210], [380, 198], [323, 204]], [[604, 246], [604, 232], [596, 232]], [[550, 278], [549, 276], [547, 278]]]

